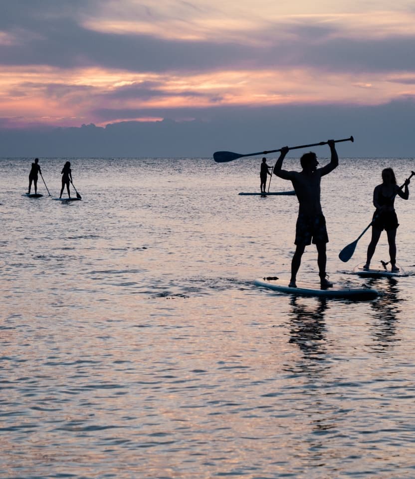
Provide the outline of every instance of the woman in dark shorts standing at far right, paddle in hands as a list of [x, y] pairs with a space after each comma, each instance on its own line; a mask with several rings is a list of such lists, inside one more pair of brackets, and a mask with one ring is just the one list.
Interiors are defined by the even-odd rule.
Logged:
[[382, 171], [382, 184], [375, 187], [373, 191], [373, 206], [376, 208], [372, 219], [372, 240], [368, 246], [368, 253], [364, 269], [369, 269], [372, 256], [375, 253], [376, 245], [383, 230], [388, 235], [389, 255], [391, 257], [392, 272], [398, 272], [396, 265], [396, 231], [398, 229], [398, 217], [395, 213], [394, 202], [396, 195], [404, 200], [409, 198], [409, 179], [405, 181], [405, 190], [396, 184], [395, 173], [392, 168], [385, 168]]

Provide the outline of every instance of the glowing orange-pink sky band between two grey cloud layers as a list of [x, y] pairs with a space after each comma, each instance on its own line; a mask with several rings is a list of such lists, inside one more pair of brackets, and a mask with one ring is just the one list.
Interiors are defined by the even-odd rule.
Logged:
[[[108, 124], [120, 121], [157, 121], [160, 115], [114, 116], [105, 122], [88, 113], [110, 110], [211, 108], [215, 106], [262, 106], [280, 104], [353, 103], [381, 104], [403, 95], [415, 95], [411, 73], [334, 74], [314, 69], [239, 70], [197, 75], [135, 75], [125, 71], [78, 69], [62, 74], [59, 69], [40, 67], [32, 72], [14, 68], [0, 73], [0, 108], [3, 117], [29, 123], [55, 121], [65, 125]], [[64, 79], [64, 80], [63, 80]], [[400, 81], [402, 80], [402, 81]], [[128, 93], [124, 87], [155, 82], [147, 97]], [[56, 91], [55, 91], [56, 90]]]

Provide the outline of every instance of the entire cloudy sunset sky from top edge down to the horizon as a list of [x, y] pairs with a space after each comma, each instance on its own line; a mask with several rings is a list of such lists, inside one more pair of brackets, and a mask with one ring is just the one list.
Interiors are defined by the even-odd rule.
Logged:
[[0, 0], [0, 156], [414, 154], [413, 0]]

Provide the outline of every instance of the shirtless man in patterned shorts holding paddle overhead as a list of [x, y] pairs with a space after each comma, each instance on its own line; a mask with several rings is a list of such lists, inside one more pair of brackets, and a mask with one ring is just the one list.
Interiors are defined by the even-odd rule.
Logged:
[[302, 171], [282, 170], [282, 162], [289, 148], [281, 148], [281, 154], [274, 166], [274, 175], [284, 180], [291, 180], [299, 202], [298, 218], [295, 232], [296, 249], [291, 261], [291, 279], [290, 287], [297, 287], [296, 277], [301, 264], [301, 257], [305, 247], [313, 242], [317, 247], [317, 264], [320, 276], [320, 287], [327, 289], [333, 286], [326, 276], [326, 243], [329, 238], [326, 229], [326, 220], [324, 218], [320, 204], [320, 180], [322, 176], [331, 173], [338, 165], [334, 140], [329, 140], [328, 145], [331, 151], [330, 163], [317, 168], [319, 164], [317, 156], [313, 152], [305, 153], [301, 159]]

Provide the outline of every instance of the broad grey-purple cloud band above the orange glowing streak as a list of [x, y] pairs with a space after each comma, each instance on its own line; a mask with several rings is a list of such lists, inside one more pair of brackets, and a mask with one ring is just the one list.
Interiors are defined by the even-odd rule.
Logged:
[[[94, 5], [69, 1], [17, 1], [0, 20], [4, 65], [49, 65], [57, 68], [99, 66], [134, 72], [206, 72], [220, 69], [317, 67], [324, 71], [407, 71], [415, 68], [415, 35], [395, 31], [377, 37], [372, 27], [351, 32], [344, 20], [324, 16], [276, 19], [238, 32], [232, 41], [221, 30], [205, 39], [178, 39], [141, 32], [140, 20], [152, 10], [135, 10], [135, 31], [97, 31], [88, 28]], [[127, 3], [128, 4], [128, 3]], [[109, 8], [111, 2], [104, 2]], [[133, 5], [130, 5], [132, 8]], [[183, 4], [182, 4], [183, 6]], [[188, 7], [189, 8], [189, 7]], [[154, 12], [153, 15], [157, 14]], [[141, 17], [140, 17], [141, 16]], [[99, 15], [97, 15], [99, 21]], [[95, 18], [96, 18], [95, 17]], [[134, 19], [132, 20], [134, 24]], [[182, 30], [183, 31], [183, 30]], [[236, 32], [237, 30], [235, 30]], [[14, 42], [11, 42], [14, 38]], [[11, 44], [10, 44], [11, 42]]]

